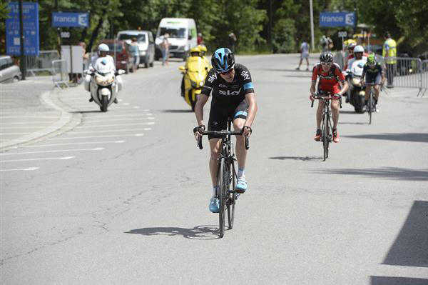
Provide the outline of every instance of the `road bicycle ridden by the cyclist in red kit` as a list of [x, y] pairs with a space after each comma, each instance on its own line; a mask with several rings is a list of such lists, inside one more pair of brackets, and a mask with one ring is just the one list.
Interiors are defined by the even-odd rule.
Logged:
[[[319, 91], [314, 94], [314, 99], [324, 100], [324, 109], [322, 110], [322, 124], [321, 124], [321, 140], [322, 148], [324, 149], [324, 161], [328, 158], [328, 145], [332, 142], [333, 136], [333, 126], [332, 126], [332, 110], [330, 109], [330, 100], [332, 99], [332, 94], [327, 91]], [[342, 97], [339, 100], [340, 108], [342, 108]], [[314, 106], [314, 101], [310, 107]]]

